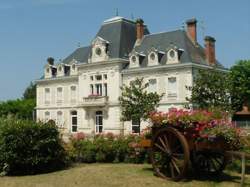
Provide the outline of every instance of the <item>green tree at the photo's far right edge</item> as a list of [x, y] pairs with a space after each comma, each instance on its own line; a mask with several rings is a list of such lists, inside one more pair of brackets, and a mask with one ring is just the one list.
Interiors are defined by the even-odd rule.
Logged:
[[239, 111], [250, 104], [250, 60], [240, 60], [230, 68], [232, 107]]

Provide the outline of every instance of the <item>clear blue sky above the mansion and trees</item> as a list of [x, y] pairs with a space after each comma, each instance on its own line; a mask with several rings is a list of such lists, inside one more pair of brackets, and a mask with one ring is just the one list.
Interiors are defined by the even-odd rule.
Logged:
[[88, 45], [116, 8], [119, 16], [142, 17], [151, 33], [196, 17], [199, 42], [215, 37], [217, 59], [230, 67], [250, 59], [249, 7], [249, 0], [0, 0], [0, 101], [21, 97], [48, 56], [58, 61], [79, 42]]

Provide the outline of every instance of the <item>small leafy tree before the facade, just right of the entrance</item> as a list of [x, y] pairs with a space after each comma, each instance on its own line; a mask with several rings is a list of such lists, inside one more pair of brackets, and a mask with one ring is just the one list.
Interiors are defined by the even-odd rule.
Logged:
[[147, 91], [149, 84], [143, 78], [131, 81], [129, 86], [121, 87], [122, 94], [119, 101], [122, 108], [123, 121], [136, 121], [139, 129], [142, 119], [147, 119], [151, 111], [156, 110], [163, 96], [156, 92]]

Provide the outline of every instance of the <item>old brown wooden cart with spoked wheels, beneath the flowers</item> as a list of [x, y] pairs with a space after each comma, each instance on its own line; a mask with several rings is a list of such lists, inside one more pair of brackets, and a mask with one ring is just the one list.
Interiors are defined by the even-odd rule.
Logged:
[[149, 147], [157, 176], [174, 181], [185, 178], [189, 164], [199, 175], [218, 175], [226, 166], [224, 141], [197, 142], [176, 127], [153, 127], [152, 139], [142, 141]]

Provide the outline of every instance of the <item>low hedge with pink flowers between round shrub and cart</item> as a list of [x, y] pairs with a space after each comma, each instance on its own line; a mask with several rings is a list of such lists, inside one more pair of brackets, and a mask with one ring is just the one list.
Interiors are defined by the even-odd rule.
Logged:
[[79, 138], [76, 134], [71, 139], [71, 159], [77, 162], [129, 162], [142, 163], [146, 158], [146, 150], [139, 147], [141, 136], [130, 134], [127, 136], [101, 133], [93, 139]]

